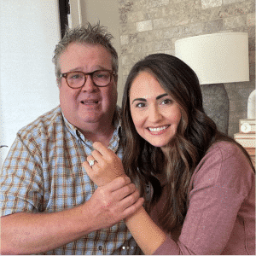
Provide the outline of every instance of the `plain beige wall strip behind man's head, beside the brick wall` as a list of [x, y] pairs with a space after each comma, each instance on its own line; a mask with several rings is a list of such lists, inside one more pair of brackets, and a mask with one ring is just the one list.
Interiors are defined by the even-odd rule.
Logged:
[[117, 0], [80, 0], [82, 24], [87, 21], [95, 24], [100, 20], [103, 26], [108, 27], [108, 32], [113, 35], [113, 47], [119, 55], [119, 82], [118, 82], [118, 105], [121, 106], [123, 96], [122, 68], [120, 65], [120, 42], [119, 42], [119, 4]]

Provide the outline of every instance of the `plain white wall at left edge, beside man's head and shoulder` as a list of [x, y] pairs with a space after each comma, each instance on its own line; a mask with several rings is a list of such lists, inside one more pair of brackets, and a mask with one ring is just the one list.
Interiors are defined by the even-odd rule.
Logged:
[[[0, 32], [0, 145], [10, 148], [21, 127], [59, 104], [58, 0], [1, 0]], [[9, 148], [0, 149], [0, 167]]]

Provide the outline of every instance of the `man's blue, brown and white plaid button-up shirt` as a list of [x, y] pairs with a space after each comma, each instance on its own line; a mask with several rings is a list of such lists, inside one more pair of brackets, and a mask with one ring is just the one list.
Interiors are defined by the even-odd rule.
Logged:
[[[109, 147], [122, 157], [119, 118]], [[4, 161], [0, 177], [2, 216], [15, 212], [59, 212], [88, 201], [96, 184], [82, 163], [92, 142], [57, 107], [21, 129]], [[140, 254], [124, 221], [97, 230], [44, 254]], [[42, 254], [42, 253], [40, 253]]]

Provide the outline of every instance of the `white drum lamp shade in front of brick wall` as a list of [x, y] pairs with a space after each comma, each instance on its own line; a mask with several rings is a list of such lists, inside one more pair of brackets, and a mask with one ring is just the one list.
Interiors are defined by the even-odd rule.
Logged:
[[201, 84], [249, 81], [247, 33], [179, 39], [175, 42], [175, 55], [195, 71]]

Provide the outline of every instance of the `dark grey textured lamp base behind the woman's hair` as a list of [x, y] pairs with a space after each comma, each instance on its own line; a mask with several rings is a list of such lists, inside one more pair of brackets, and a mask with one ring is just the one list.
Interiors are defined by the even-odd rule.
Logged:
[[218, 131], [228, 135], [230, 100], [224, 84], [203, 84], [201, 93], [205, 112], [215, 122]]

